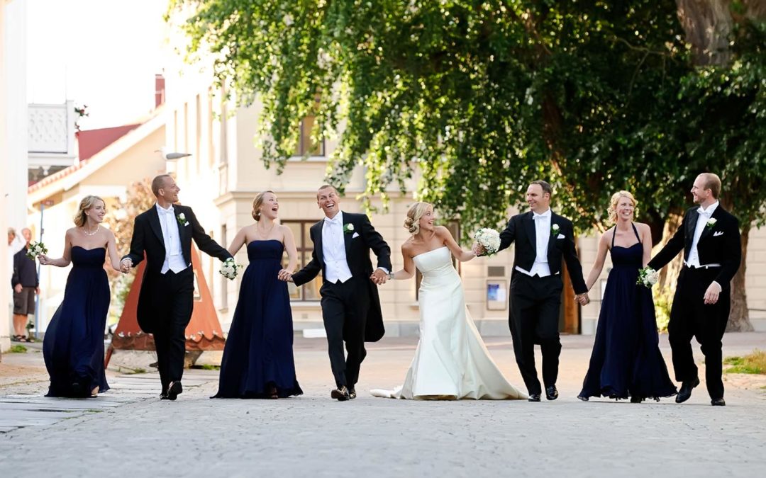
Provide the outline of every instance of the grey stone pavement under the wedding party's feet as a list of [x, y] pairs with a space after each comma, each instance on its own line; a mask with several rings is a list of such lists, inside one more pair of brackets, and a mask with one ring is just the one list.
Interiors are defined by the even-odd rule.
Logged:
[[[216, 374], [201, 371], [188, 373], [174, 403], [146, 392], [154, 375], [112, 378], [125, 387], [100, 398], [52, 402], [40, 398], [38, 382], [25, 407], [62, 410], [74, 402], [101, 412], [0, 434], [0, 476], [761, 476], [764, 377], [728, 376], [724, 408], [709, 405], [704, 384], [683, 405], [579, 402], [592, 340], [562, 338], [555, 402], [372, 398], [368, 389], [404, 379], [416, 343], [404, 338], [368, 347], [352, 402], [329, 399], [332, 376], [319, 339], [296, 340], [305, 392], [297, 398], [210, 400]], [[509, 380], [521, 384], [509, 340], [487, 342]], [[766, 348], [766, 334], [728, 334], [724, 342], [725, 356], [738, 355]], [[666, 337], [662, 343], [669, 361]], [[0, 417], [13, 412], [0, 403]]]

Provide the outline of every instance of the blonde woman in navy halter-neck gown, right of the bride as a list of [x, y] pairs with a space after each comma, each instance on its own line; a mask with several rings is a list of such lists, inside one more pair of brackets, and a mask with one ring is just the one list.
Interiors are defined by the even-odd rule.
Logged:
[[640, 403], [676, 395], [660, 354], [652, 291], [637, 284], [638, 271], [652, 252], [652, 233], [646, 224], [633, 222], [636, 206], [630, 192], [614, 193], [608, 210], [614, 226], [599, 239], [586, 281], [590, 290], [610, 252], [612, 269], [601, 300], [591, 363], [578, 395], [584, 402], [604, 396], [630, 397], [630, 402]]

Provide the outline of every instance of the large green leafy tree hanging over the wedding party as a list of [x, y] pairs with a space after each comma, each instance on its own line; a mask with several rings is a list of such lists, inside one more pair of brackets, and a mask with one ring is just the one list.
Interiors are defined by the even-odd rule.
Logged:
[[[695, 16], [711, 3], [728, 29]], [[170, 16], [192, 57], [212, 53], [241, 102], [263, 102], [267, 164], [283, 166], [313, 115], [317, 138], [340, 134], [329, 180], [342, 189], [364, 164], [365, 200], [417, 171], [419, 197], [470, 229], [502, 223], [543, 177], [580, 230], [633, 190], [659, 240], [701, 171], [722, 173], [743, 223], [761, 217], [753, 3], [173, 0]], [[690, 41], [699, 31], [712, 36]]]

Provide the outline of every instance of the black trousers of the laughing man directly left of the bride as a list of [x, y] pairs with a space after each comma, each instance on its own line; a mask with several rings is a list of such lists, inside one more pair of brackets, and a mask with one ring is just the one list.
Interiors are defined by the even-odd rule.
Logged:
[[[369, 280], [365, 278], [364, 280]], [[332, 376], [338, 388], [353, 389], [359, 379], [359, 366], [367, 356], [365, 324], [370, 308], [369, 286], [360, 278], [332, 284], [325, 282], [322, 294], [322, 320], [327, 333]], [[343, 353], [343, 343], [348, 356]]]

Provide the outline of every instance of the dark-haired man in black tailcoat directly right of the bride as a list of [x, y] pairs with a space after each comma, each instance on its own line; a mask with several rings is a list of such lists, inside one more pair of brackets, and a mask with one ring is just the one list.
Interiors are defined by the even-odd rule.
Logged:
[[[561, 257], [567, 263], [569, 278], [578, 302], [588, 304], [588, 288], [575, 249], [575, 232], [569, 219], [553, 213], [553, 190], [543, 180], [527, 188], [530, 211], [517, 214], [500, 233], [500, 248], [516, 242], [511, 275], [509, 326], [516, 364], [529, 392], [529, 402], [539, 402], [542, 389], [535, 368], [535, 343], [542, 353], [542, 381], [545, 398], [558, 398], [558, 310], [561, 306]], [[476, 252], [483, 248], [476, 245]]]

